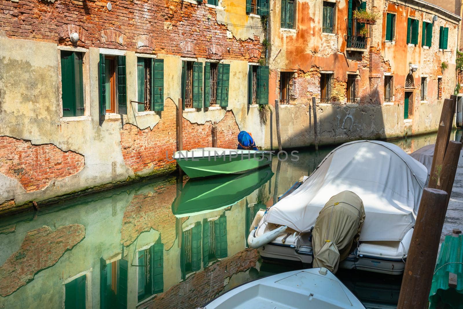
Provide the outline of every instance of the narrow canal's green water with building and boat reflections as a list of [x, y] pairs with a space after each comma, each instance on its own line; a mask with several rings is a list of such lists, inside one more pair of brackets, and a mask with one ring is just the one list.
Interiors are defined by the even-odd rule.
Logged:
[[[434, 141], [391, 142], [412, 152]], [[298, 161], [274, 158], [271, 168], [239, 176], [151, 179], [8, 217], [0, 308], [197, 308], [249, 280], [302, 268], [262, 261], [246, 238], [259, 208], [332, 149], [299, 150]], [[369, 308], [397, 303], [401, 276], [337, 276]]]

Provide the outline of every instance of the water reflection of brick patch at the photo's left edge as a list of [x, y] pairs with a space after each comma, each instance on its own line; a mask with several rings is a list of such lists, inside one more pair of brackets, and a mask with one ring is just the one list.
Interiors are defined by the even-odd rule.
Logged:
[[31, 282], [38, 271], [55, 265], [84, 237], [81, 224], [58, 227], [56, 231], [44, 226], [27, 232], [19, 250], [0, 266], [0, 295], [8, 296]]

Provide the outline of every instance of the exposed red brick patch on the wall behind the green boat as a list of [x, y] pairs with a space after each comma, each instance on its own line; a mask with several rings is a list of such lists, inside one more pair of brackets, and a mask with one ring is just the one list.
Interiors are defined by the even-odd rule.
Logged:
[[[137, 126], [125, 124], [120, 130], [120, 145], [125, 164], [134, 172], [148, 168], [161, 172], [175, 164], [172, 155], [177, 149], [176, 106], [167, 100], [164, 104], [162, 119], [153, 127], [139, 130]], [[183, 149], [190, 150], [212, 146], [212, 122], [204, 125], [191, 123], [183, 118]], [[236, 149], [239, 128], [232, 111], [217, 124], [217, 146]], [[168, 154], [166, 156], [166, 153]]]

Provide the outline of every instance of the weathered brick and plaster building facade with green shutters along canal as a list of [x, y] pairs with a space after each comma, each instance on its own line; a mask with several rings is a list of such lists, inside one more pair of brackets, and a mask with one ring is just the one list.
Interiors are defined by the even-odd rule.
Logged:
[[[458, 16], [418, 0], [246, 3], [2, 1], [0, 214], [175, 169], [179, 99], [184, 149], [212, 145], [214, 122], [219, 147], [246, 130], [275, 149], [275, 100], [283, 147], [311, 145], [312, 97], [321, 143], [436, 131]], [[362, 8], [374, 25], [356, 24]]]

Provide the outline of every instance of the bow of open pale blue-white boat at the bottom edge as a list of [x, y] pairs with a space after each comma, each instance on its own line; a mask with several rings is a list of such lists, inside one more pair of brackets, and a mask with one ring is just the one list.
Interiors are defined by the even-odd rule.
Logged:
[[358, 308], [363, 304], [326, 268], [288, 271], [240, 285], [206, 309]]

